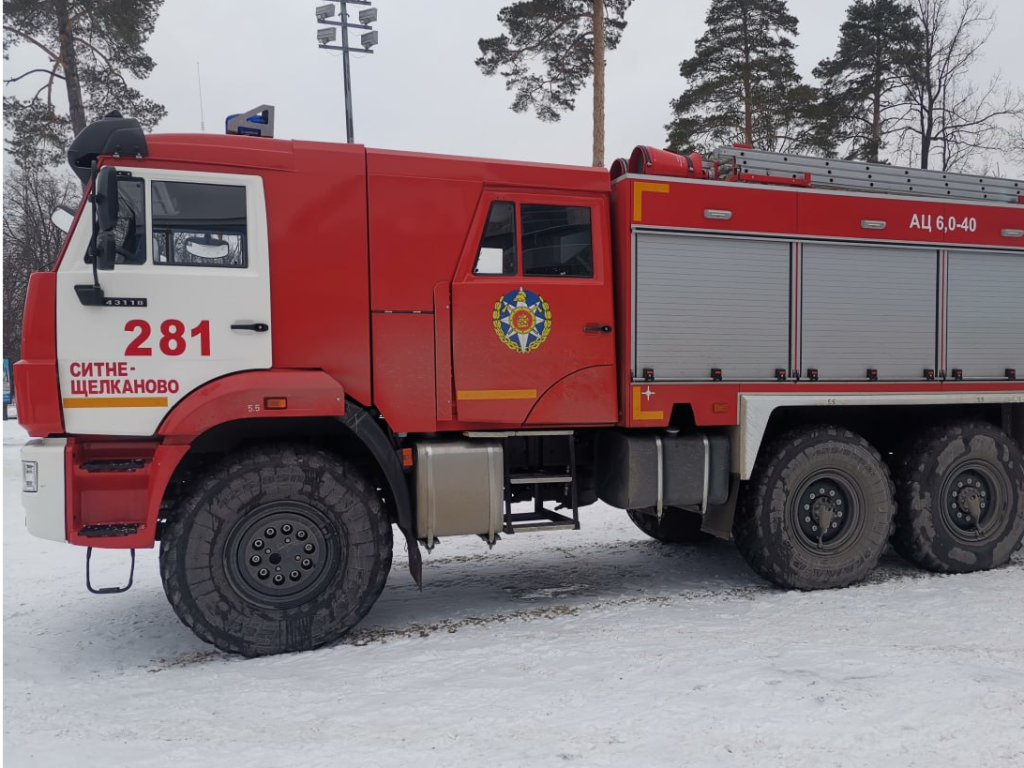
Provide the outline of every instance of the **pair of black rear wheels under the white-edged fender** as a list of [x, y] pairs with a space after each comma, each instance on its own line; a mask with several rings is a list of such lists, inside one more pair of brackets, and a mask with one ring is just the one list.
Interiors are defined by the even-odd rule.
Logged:
[[963, 422], [896, 457], [895, 478], [863, 438], [804, 427], [766, 447], [733, 536], [764, 579], [792, 589], [863, 580], [890, 541], [944, 573], [1006, 563], [1024, 537], [1024, 460], [1000, 430]]

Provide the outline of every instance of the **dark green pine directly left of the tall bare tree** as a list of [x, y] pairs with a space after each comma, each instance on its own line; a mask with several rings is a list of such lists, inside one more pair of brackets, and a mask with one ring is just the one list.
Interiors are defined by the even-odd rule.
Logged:
[[847, 157], [879, 162], [899, 117], [901, 83], [924, 39], [912, 8], [899, 0], [856, 0], [840, 28], [836, 55], [814, 70], [822, 112]]

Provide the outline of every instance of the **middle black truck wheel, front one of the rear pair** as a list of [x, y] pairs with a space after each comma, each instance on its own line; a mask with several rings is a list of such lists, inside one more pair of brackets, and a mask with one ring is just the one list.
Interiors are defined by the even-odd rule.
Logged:
[[764, 449], [732, 534], [751, 567], [773, 584], [846, 587], [885, 552], [894, 497], [889, 469], [866, 440], [839, 427], [804, 427]]

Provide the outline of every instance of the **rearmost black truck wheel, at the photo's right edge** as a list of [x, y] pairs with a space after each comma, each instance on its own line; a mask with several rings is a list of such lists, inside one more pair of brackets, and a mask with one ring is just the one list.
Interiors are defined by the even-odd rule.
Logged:
[[987, 570], [1021, 546], [1024, 457], [995, 426], [959, 422], [927, 431], [905, 452], [897, 476], [892, 544], [914, 565]]

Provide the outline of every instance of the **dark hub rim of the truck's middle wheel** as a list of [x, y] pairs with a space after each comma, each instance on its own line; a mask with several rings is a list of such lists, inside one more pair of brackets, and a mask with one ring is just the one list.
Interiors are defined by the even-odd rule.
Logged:
[[863, 499], [851, 477], [829, 470], [800, 484], [790, 516], [800, 546], [814, 554], [838, 554], [856, 543], [863, 527]]

